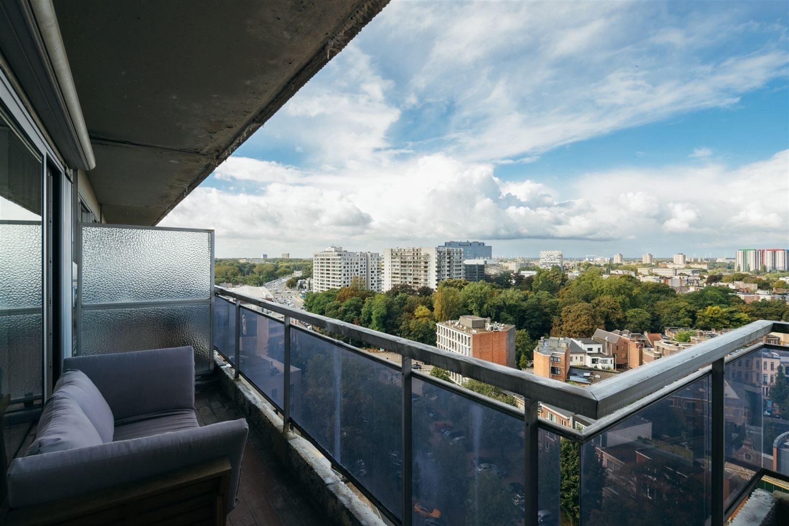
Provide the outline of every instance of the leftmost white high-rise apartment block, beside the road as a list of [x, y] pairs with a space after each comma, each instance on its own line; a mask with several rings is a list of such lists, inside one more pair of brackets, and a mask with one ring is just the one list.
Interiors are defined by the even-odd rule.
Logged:
[[329, 247], [312, 255], [312, 292], [342, 289], [353, 278], [365, 289], [381, 291], [381, 256], [377, 252], [348, 252]]

